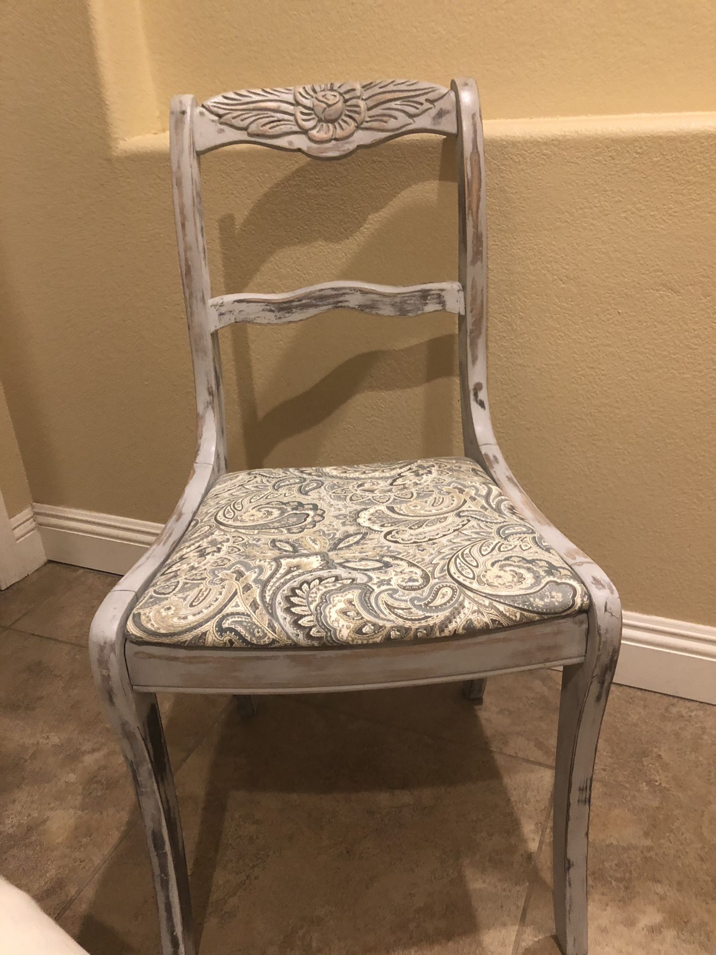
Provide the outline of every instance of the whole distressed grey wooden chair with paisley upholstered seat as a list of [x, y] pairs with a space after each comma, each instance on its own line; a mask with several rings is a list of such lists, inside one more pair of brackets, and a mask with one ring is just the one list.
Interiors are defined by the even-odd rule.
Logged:
[[[409, 133], [456, 140], [459, 281], [326, 282], [211, 297], [199, 157], [257, 143], [338, 159]], [[174, 782], [155, 693], [262, 693], [462, 681], [563, 668], [555, 919], [587, 952], [587, 835], [621, 608], [600, 568], [537, 510], [497, 446], [487, 394], [485, 175], [477, 89], [386, 80], [242, 90], [171, 106], [171, 164], [199, 412], [197, 456], [157, 541], [98, 609], [96, 685], [132, 772], [163, 955], [194, 952]], [[457, 315], [464, 457], [226, 473], [219, 329], [332, 308]]]

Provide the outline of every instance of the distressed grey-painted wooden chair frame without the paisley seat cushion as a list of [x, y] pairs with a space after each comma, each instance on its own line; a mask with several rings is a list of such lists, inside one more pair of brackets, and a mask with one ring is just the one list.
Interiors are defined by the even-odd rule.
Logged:
[[[301, 105], [310, 96], [318, 103], [313, 129], [307, 128], [313, 120]], [[354, 103], [352, 130], [349, 122], [344, 127], [331, 124], [336, 113], [331, 113], [331, 105], [340, 97], [363, 101]], [[200, 199], [202, 153], [254, 142], [338, 159], [356, 147], [415, 132], [456, 138], [458, 282], [404, 288], [333, 282], [284, 295], [211, 297]], [[565, 955], [586, 955], [590, 795], [602, 715], [619, 654], [621, 606], [600, 568], [527, 497], [493, 432], [487, 393], [485, 167], [474, 81], [455, 79], [451, 90], [390, 80], [240, 91], [201, 106], [192, 96], [176, 96], [170, 152], [199, 413], [197, 455], [177, 509], [157, 541], [100, 606], [90, 634], [95, 681], [132, 772], [146, 829], [163, 955], [192, 955], [195, 949], [177, 799], [156, 691], [246, 696], [476, 681], [472, 696], [479, 697], [489, 674], [556, 666], [563, 667], [563, 675], [555, 775], [555, 920]], [[126, 641], [126, 622], [137, 599], [226, 469], [218, 330], [236, 321], [300, 321], [328, 308], [381, 315], [441, 309], [457, 315], [465, 455], [493, 477], [569, 564], [589, 592], [587, 613], [461, 640], [390, 647], [223, 650]]]

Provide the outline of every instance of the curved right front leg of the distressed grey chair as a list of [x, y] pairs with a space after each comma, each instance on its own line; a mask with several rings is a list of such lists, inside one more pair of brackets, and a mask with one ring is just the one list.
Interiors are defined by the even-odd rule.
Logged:
[[594, 763], [619, 656], [619, 599], [590, 610], [587, 657], [565, 667], [555, 768], [555, 927], [564, 955], [587, 955], [587, 847]]

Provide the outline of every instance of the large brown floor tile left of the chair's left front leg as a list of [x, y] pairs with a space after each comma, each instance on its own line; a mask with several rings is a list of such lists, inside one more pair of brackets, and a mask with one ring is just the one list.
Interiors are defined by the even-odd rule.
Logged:
[[[180, 764], [226, 700], [164, 704], [172, 758]], [[135, 818], [130, 776], [86, 651], [0, 633], [0, 728], [0, 870], [55, 915]]]

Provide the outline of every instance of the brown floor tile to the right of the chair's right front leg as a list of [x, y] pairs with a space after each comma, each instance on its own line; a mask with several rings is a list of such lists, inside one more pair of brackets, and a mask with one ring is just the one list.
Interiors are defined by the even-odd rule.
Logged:
[[[590, 955], [716, 952], [716, 708], [615, 687], [592, 798]], [[558, 955], [551, 845], [519, 955]]]

